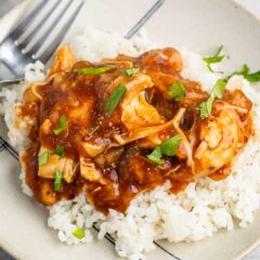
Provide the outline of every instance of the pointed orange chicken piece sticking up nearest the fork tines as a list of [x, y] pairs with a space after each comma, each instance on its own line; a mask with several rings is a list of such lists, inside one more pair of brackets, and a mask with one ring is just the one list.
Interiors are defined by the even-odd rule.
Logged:
[[56, 57], [54, 60], [54, 64], [52, 69], [50, 70], [49, 76], [58, 73], [58, 72], [66, 72], [70, 70], [74, 66], [76, 60], [73, 55], [73, 50], [69, 46], [65, 46], [58, 49], [56, 53]]

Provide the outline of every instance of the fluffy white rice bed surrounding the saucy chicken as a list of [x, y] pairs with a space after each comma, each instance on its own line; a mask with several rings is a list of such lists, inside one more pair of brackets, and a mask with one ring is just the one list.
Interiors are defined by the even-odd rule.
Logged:
[[[144, 34], [126, 40], [120, 35], [91, 28], [75, 37], [70, 44], [78, 60], [93, 62], [102, 57], [115, 57], [118, 53], [138, 55], [154, 48]], [[219, 76], [208, 72], [198, 54], [185, 49], [180, 52], [184, 63], [182, 76], [199, 81], [205, 90], [210, 91]], [[42, 80], [42, 69], [43, 65], [39, 63], [28, 65], [26, 80]], [[96, 223], [100, 239], [106, 233], [110, 234], [119, 256], [139, 260], [145, 259], [144, 253], [155, 249], [153, 240], [199, 240], [219, 230], [231, 231], [235, 225], [245, 227], [252, 222], [260, 202], [260, 95], [239, 76], [232, 77], [227, 83], [227, 89], [234, 88], [242, 89], [255, 104], [256, 135], [237, 157], [229, 178], [218, 182], [209, 178], [200, 179], [190, 183], [178, 195], [169, 194], [167, 190], [170, 184], [166, 183], [153, 192], [139, 195], [125, 214], [110, 210], [105, 217], [86, 202], [82, 194], [73, 200], [60, 202], [49, 208], [48, 219], [48, 225], [56, 230], [60, 240], [67, 244], [89, 243], [92, 240], [91, 226]], [[16, 86], [0, 91], [0, 114], [4, 115], [12, 144], [20, 150], [28, 144], [28, 122], [14, 128], [13, 112], [23, 89], [23, 86]], [[24, 174], [21, 178], [24, 179]], [[31, 195], [24, 182], [23, 190]], [[84, 238], [78, 239], [73, 235], [76, 227], [84, 231]]]

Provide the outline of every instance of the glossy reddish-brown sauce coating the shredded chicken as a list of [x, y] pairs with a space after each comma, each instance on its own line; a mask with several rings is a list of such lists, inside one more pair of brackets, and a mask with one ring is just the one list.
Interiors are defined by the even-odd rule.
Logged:
[[[70, 199], [80, 192], [86, 192], [87, 198], [98, 210], [107, 213], [108, 209], [113, 208], [123, 212], [131, 199], [143, 191], [152, 191], [168, 180], [172, 184], [170, 191], [178, 193], [196, 179], [196, 172], [192, 171], [192, 167], [186, 162], [185, 147], [180, 147], [177, 156], [164, 156], [164, 165], [157, 165], [147, 158], [154, 148], [145, 147], [142, 140], [117, 147], [107, 146], [103, 153], [91, 158], [81, 147], [80, 143], [84, 141], [109, 145], [115, 142], [115, 134], [128, 133], [128, 129], [121, 122], [121, 110], [116, 109], [108, 115], [104, 110], [104, 104], [108, 96], [106, 93], [108, 87], [120, 77], [129, 63], [151, 77], [154, 86], [145, 90], [145, 99], [156, 108], [165, 122], [170, 121], [180, 108], [185, 108], [180, 129], [191, 143], [194, 156], [203, 139], [199, 134], [205, 123], [205, 120], [199, 118], [198, 105], [208, 99], [208, 93], [202, 90], [199, 83], [180, 76], [182, 61], [174, 49], [155, 50], [136, 58], [120, 55], [116, 60], [105, 60], [100, 64], [79, 62], [72, 70], [57, 73], [52, 80], [40, 86], [39, 93], [42, 96], [40, 101], [26, 102], [22, 105], [23, 115], [37, 118], [39, 121], [37, 129], [34, 129], [38, 134], [31, 134], [32, 145], [22, 157], [26, 182], [38, 202], [53, 205], [60, 199]], [[115, 69], [99, 76], [79, 75], [74, 72], [75, 68], [110, 64]], [[173, 82], [182, 82], [186, 89], [186, 95], [180, 102], [167, 95], [167, 90]], [[240, 134], [243, 146], [251, 133], [249, 116], [251, 103], [238, 90], [235, 93], [226, 91], [223, 101], [248, 110], [246, 114], [237, 113], [237, 121], [243, 127]], [[37, 109], [30, 109], [31, 104]], [[216, 105], [212, 116], [217, 117], [218, 113]], [[57, 128], [62, 115], [67, 118], [67, 127], [61, 134], [55, 135], [53, 130]], [[48, 120], [51, 122], [50, 126]], [[176, 130], [166, 129], [159, 132], [157, 138], [172, 136]], [[80, 174], [80, 167], [76, 167], [73, 182], [66, 183], [63, 180], [61, 191], [54, 192], [54, 180], [38, 176], [38, 154], [40, 146], [54, 151], [57, 145], [62, 145], [66, 157], [74, 159], [76, 164], [80, 157], [90, 159], [101, 172], [103, 181], [86, 180]], [[212, 179], [221, 180], [230, 173], [229, 168], [230, 164], [210, 174]]]

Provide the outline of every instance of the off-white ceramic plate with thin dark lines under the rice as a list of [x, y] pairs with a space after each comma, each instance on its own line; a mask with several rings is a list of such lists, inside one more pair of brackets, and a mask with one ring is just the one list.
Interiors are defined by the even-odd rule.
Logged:
[[[73, 36], [86, 24], [127, 32], [156, 0], [110, 0], [107, 3], [105, 0], [87, 0], [68, 35]], [[17, 22], [27, 4], [0, 21], [0, 38]], [[245, 62], [252, 69], [259, 68], [260, 22], [233, 1], [166, 0], [144, 28], [160, 44], [184, 46], [202, 54], [209, 54], [223, 44], [225, 53], [231, 56], [225, 64], [227, 69], [239, 68]], [[0, 121], [3, 139], [4, 131]], [[15, 153], [3, 139], [0, 139], [0, 245], [17, 259], [26, 260], [118, 259], [113, 243], [106, 239], [70, 247], [56, 239], [47, 227], [44, 208], [22, 194], [20, 166]], [[260, 213], [247, 229], [219, 233], [203, 242], [159, 242], [158, 249], [148, 253], [147, 259], [237, 260], [259, 242]]]

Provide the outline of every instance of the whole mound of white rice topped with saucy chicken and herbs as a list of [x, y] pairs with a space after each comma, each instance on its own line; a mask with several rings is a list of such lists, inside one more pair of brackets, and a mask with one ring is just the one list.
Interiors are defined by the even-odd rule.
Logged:
[[44, 77], [29, 65], [20, 103], [2, 102], [23, 188], [49, 207], [58, 238], [90, 242], [95, 224], [119, 256], [144, 259], [153, 240], [198, 240], [251, 222], [260, 106], [249, 82], [258, 73], [245, 65], [223, 76], [222, 47], [202, 58], [142, 38], [106, 50], [96, 39], [109, 34], [82, 37], [87, 47], [61, 48]]

